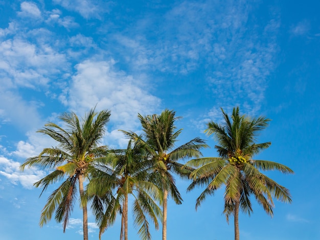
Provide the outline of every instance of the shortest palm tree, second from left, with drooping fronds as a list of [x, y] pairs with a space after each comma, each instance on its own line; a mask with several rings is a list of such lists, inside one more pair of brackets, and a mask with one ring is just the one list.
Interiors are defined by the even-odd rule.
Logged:
[[[103, 199], [105, 193], [115, 189], [116, 196], [107, 204], [95, 205], [94, 209], [100, 236], [112, 224], [118, 212], [122, 214], [120, 240], [128, 240], [128, 196], [134, 198], [134, 224], [144, 240], [151, 239], [148, 217], [156, 228], [157, 218], [162, 218], [161, 209], [156, 202], [162, 201], [162, 190], [149, 182], [152, 175], [152, 162], [146, 156], [146, 151], [139, 141], [129, 140], [127, 149], [110, 151], [109, 164], [103, 164], [95, 169], [95, 177], [88, 184], [88, 195], [96, 195]], [[107, 199], [109, 199], [107, 195]], [[102, 212], [104, 212], [102, 214]]]

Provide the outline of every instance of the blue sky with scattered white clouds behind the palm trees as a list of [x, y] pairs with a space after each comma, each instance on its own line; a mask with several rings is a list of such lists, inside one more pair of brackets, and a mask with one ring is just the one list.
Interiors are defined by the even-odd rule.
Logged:
[[[0, 238], [80, 239], [76, 205], [66, 233], [38, 226], [51, 189], [38, 198], [39, 169], [19, 165], [55, 143], [36, 130], [97, 105], [111, 110], [103, 143], [125, 147], [118, 129], [139, 132], [138, 113], [174, 109], [183, 118], [179, 143], [208, 140], [205, 124], [230, 112], [272, 119], [258, 159], [278, 161], [294, 175], [267, 173], [290, 189], [291, 205], [276, 202], [270, 218], [254, 203], [240, 215], [242, 240], [320, 239], [320, 19], [317, 1], [5, 1], [0, 0]], [[182, 205], [169, 200], [169, 239], [232, 239], [222, 215], [223, 190], [195, 211], [201, 189]], [[255, 202], [255, 199], [252, 198]], [[130, 240], [139, 239], [129, 223]], [[89, 215], [89, 238], [98, 238]], [[102, 239], [117, 239], [120, 218]], [[153, 239], [161, 231], [153, 231]]]

